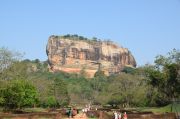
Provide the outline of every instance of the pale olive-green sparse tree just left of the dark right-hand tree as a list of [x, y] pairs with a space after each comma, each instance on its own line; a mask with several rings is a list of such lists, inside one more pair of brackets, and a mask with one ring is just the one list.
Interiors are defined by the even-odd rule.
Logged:
[[138, 75], [121, 73], [108, 80], [108, 104], [124, 107], [146, 105], [146, 83]]

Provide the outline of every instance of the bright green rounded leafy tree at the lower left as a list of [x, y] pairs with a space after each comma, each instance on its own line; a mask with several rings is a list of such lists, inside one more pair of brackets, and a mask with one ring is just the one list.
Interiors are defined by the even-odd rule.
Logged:
[[3, 105], [6, 109], [21, 109], [37, 103], [37, 90], [26, 80], [11, 80], [3, 93]]

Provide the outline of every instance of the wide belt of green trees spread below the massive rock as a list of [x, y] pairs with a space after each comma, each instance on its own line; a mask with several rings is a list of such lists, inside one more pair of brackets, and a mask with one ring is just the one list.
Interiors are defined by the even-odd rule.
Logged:
[[85, 69], [80, 74], [52, 73], [46, 61], [19, 60], [19, 56], [0, 50], [0, 105], [5, 108], [88, 103], [122, 108], [162, 106], [180, 98], [178, 50], [157, 56], [154, 65], [125, 67], [109, 77], [98, 71], [92, 79], [85, 78]]

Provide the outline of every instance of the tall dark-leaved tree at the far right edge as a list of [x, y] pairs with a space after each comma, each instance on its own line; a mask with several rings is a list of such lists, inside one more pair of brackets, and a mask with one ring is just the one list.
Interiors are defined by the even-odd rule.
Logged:
[[148, 70], [148, 77], [149, 83], [158, 89], [160, 105], [178, 98], [180, 96], [180, 51], [174, 49], [167, 56], [157, 56], [154, 67]]

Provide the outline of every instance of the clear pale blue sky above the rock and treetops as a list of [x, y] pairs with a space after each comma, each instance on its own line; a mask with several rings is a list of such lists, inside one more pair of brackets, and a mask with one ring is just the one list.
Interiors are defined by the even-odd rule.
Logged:
[[46, 60], [50, 35], [111, 39], [138, 65], [180, 49], [180, 0], [1, 0], [0, 47]]

